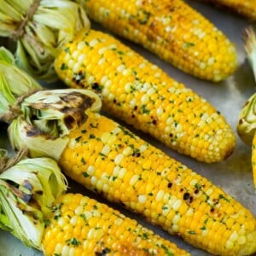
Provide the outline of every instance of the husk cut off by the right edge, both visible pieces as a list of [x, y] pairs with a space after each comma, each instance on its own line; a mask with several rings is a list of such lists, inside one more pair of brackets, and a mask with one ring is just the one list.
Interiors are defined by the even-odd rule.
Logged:
[[[247, 60], [253, 69], [256, 81], [256, 36], [253, 27], [248, 27], [243, 32]], [[256, 131], [256, 93], [247, 100], [241, 108], [236, 126], [237, 133], [241, 140], [251, 145]]]

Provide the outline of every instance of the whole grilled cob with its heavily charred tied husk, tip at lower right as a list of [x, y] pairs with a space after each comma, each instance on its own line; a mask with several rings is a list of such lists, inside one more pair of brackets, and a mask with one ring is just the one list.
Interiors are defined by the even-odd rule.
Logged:
[[[20, 95], [9, 86], [9, 75], [0, 89], [9, 102], [3, 112], [12, 111], [11, 100]], [[87, 92], [87, 99], [86, 90], [67, 90], [67, 95], [55, 90], [52, 96], [38, 91], [24, 97], [20, 111], [14, 109], [17, 114], [9, 120], [13, 148], [27, 147], [35, 156], [59, 155], [55, 159], [69, 177], [195, 247], [219, 255], [256, 251], [256, 219], [251, 212], [206, 178], [96, 113], [93, 106], [99, 97]], [[89, 104], [85, 110], [80, 97], [93, 108]], [[59, 140], [67, 142], [64, 147], [59, 147]]]

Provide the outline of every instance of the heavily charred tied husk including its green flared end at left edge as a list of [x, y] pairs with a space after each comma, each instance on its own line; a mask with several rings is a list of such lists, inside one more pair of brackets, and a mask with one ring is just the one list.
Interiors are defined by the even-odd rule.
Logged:
[[[11, 123], [9, 133], [15, 135], [10, 137], [12, 147], [21, 149], [29, 145], [32, 157], [44, 154], [58, 160], [61, 148], [68, 143], [67, 133], [86, 120], [88, 111], [99, 111], [102, 107], [100, 97], [90, 90], [43, 90], [15, 66], [11, 53], [3, 47], [0, 70], [0, 119]], [[26, 94], [15, 107], [16, 101]], [[27, 132], [29, 138], [24, 137]]]

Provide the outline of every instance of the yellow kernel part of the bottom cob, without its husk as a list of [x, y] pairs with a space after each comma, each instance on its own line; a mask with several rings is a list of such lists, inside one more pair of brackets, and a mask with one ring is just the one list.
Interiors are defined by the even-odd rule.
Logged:
[[58, 198], [42, 243], [46, 256], [190, 255], [131, 218], [80, 194]]

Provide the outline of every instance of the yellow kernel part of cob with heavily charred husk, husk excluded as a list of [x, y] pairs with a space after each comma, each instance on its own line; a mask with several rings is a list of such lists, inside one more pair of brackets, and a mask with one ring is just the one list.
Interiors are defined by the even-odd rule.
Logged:
[[[114, 134], [114, 139], [106, 134]], [[71, 131], [69, 138], [59, 164], [68, 177], [87, 189], [100, 193], [109, 201], [122, 203], [150, 223], [182, 236], [209, 253], [248, 255], [256, 251], [256, 219], [252, 213], [205, 177], [112, 119], [89, 113], [86, 124]], [[109, 153], [99, 154], [107, 145]], [[132, 150], [122, 154], [127, 147]], [[120, 154], [122, 158], [116, 161]], [[98, 159], [104, 164], [96, 166]], [[113, 165], [110, 167], [108, 163]], [[124, 167], [125, 163], [131, 165]], [[73, 171], [76, 168], [80, 173]], [[89, 169], [94, 172], [91, 174]], [[102, 185], [97, 186], [97, 183]]]

